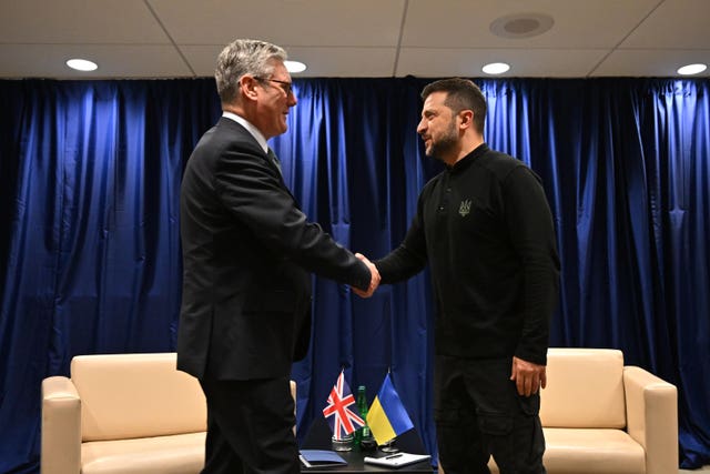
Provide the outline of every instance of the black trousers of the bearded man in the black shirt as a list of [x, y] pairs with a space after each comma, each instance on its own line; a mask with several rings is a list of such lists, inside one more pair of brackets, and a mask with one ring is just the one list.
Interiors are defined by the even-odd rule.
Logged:
[[446, 474], [544, 474], [540, 394], [518, 395], [511, 357], [437, 355], [435, 410], [439, 462]]

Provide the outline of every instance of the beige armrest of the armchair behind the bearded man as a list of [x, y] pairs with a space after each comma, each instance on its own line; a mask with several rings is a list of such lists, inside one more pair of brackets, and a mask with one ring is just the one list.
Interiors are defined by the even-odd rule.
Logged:
[[678, 473], [678, 392], [641, 367], [623, 367], [627, 431], [646, 451], [646, 474]]

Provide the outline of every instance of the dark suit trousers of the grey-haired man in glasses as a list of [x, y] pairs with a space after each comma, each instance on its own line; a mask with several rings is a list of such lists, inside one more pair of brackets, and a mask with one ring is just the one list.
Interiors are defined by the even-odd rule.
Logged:
[[200, 381], [207, 401], [203, 474], [297, 474], [288, 379]]

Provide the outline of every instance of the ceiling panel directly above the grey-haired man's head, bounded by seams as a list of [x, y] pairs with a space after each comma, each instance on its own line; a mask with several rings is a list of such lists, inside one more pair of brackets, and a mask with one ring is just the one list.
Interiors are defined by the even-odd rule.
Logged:
[[180, 44], [258, 38], [291, 46], [395, 47], [405, 0], [150, 0]]

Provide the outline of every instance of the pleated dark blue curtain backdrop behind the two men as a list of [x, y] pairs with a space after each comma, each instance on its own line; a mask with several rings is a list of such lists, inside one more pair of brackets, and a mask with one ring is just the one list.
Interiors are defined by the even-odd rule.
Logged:
[[[368, 256], [400, 242], [440, 170], [415, 133], [427, 82], [296, 80], [273, 140], [306, 213]], [[617, 347], [674, 383], [679, 462], [710, 462], [710, 81], [477, 83], [488, 143], [542, 177], [555, 214], [551, 345]], [[1, 81], [0, 103], [0, 473], [34, 473], [43, 377], [77, 354], [174, 350], [181, 174], [220, 107], [211, 79]], [[342, 369], [371, 400], [390, 370], [435, 452], [427, 273], [371, 300], [315, 289], [300, 433]]]

